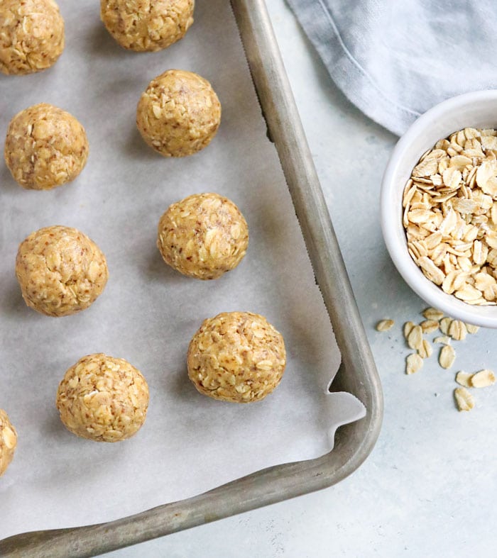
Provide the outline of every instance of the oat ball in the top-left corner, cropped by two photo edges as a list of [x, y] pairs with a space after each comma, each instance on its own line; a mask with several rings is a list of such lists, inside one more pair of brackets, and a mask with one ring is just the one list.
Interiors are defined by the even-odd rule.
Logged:
[[64, 50], [64, 20], [53, 0], [0, 1], [0, 72], [47, 69]]

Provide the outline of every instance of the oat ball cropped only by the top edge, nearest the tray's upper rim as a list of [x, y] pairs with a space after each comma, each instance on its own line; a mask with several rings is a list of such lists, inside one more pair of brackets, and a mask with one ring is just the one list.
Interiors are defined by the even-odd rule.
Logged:
[[185, 36], [194, 0], [101, 0], [100, 16], [121, 47], [162, 50]]

